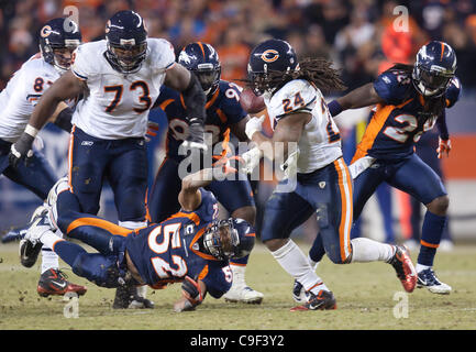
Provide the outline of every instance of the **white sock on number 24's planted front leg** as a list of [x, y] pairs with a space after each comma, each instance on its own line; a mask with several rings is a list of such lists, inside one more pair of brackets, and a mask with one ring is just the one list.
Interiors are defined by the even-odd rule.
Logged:
[[289, 275], [301, 283], [306, 290], [310, 290], [314, 295], [319, 294], [321, 289], [329, 290], [322, 279], [312, 271], [308, 258], [292, 240], [289, 240], [288, 243], [272, 254]]

